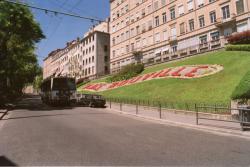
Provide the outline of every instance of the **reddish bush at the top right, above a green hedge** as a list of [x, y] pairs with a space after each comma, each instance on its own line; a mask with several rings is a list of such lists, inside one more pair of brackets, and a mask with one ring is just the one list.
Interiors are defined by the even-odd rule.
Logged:
[[249, 44], [250, 30], [233, 34], [227, 38], [230, 44]]

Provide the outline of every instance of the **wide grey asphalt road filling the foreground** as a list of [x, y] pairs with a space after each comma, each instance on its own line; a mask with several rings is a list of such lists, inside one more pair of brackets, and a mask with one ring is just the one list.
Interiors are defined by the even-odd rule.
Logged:
[[1, 165], [250, 166], [250, 141], [22, 101], [0, 121]]

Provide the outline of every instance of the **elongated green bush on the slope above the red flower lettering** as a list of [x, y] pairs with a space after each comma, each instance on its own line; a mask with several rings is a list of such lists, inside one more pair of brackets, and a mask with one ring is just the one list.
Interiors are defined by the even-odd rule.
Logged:
[[107, 78], [107, 82], [116, 82], [116, 81], [122, 81], [122, 80], [127, 80], [130, 78], [133, 78], [140, 74], [144, 70], [144, 65], [143, 64], [130, 64], [127, 66], [124, 66], [121, 71], [109, 78]]

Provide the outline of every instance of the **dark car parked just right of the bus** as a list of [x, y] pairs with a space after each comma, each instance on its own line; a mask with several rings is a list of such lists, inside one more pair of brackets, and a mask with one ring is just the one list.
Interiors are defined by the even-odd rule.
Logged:
[[101, 95], [77, 94], [77, 104], [89, 107], [105, 107], [106, 100]]

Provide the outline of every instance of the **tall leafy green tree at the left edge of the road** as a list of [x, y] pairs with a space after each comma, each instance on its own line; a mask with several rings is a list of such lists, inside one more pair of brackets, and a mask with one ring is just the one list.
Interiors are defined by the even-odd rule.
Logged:
[[35, 44], [45, 38], [27, 7], [0, 1], [0, 91], [20, 94], [38, 72]]

